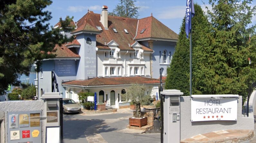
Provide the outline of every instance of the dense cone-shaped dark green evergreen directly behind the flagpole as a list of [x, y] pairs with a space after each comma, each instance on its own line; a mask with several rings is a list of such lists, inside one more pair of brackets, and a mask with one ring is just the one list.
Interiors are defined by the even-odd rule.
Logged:
[[[198, 54], [196, 52], [196, 46], [203, 44], [199, 42], [205, 39], [210, 29], [210, 24], [204, 16], [204, 12], [200, 5], [194, 4], [194, 10], [195, 16], [192, 19], [193, 65], [196, 62], [196, 58], [194, 56]], [[170, 67], [167, 68], [165, 88], [181, 90], [186, 96], [189, 96], [189, 49], [189, 39], [186, 38], [185, 34], [184, 18], [180, 28], [179, 39], [175, 47], [175, 53], [173, 55], [172, 62]], [[195, 89], [194, 85], [193, 89]], [[198, 93], [198, 91], [194, 90], [193, 94], [195, 93]]]

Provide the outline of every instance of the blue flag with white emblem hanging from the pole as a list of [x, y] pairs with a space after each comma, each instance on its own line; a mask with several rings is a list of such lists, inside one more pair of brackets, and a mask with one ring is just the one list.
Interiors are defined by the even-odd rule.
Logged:
[[[192, 2], [192, 4], [190, 4]], [[192, 17], [195, 15], [194, 10], [194, 3], [193, 0], [187, 0], [187, 6], [186, 6], [186, 16], [185, 16], [185, 31], [188, 38], [189, 33], [191, 32], [191, 23], [192, 23]]]

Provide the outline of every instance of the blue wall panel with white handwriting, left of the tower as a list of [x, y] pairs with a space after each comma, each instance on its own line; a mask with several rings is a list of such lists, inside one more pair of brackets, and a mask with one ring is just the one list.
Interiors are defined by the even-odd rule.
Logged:
[[58, 76], [75, 76], [75, 60], [55, 60], [54, 72]]

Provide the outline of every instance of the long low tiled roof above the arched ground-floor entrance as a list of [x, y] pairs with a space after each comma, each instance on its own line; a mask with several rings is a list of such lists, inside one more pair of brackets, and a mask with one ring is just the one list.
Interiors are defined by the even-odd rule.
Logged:
[[81, 86], [100, 86], [100, 85], [119, 85], [119, 84], [148, 84], [148, 83], [160, 83], [159, 79], [147, 78], [147, 77], [112, 77], [112, 78], [99, 78], [95, 77], [87, 80], [73, 80], [62, 84], [68, 85], [81, 85]]

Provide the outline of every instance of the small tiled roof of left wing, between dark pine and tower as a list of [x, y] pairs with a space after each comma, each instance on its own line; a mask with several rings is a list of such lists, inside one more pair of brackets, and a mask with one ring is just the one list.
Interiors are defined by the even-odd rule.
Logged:
[[80, 58], [74, 48], [67, 48], [65, 45], [66, 43], [61, 46], [56, 44], [51, 53], [56, 54], [56, 58]]

